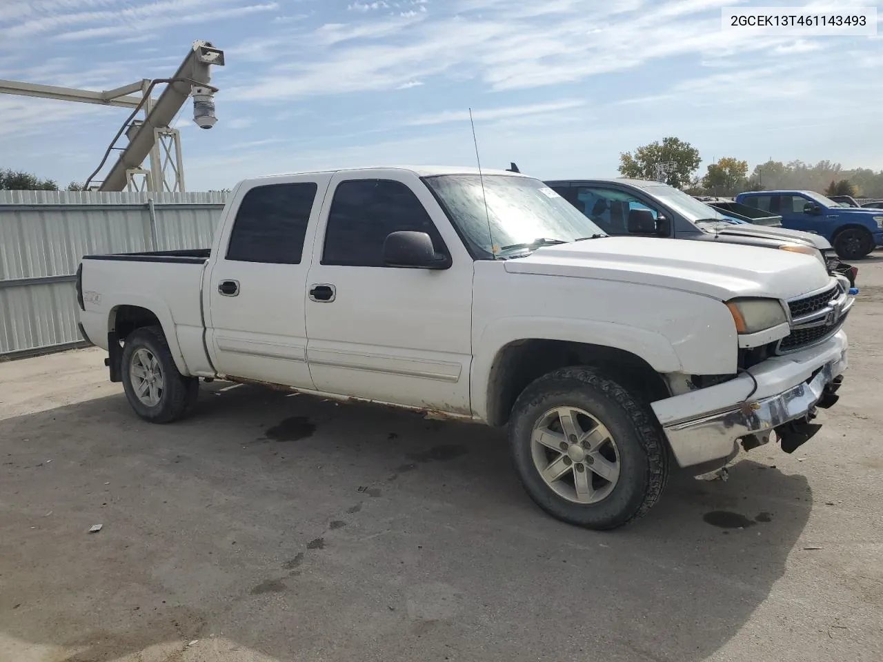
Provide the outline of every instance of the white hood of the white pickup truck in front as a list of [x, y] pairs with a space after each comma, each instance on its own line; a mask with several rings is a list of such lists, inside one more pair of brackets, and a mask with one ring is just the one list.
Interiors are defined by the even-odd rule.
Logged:
[[546, 246], [507, 260], [505, 269], [510, 274], [631, 282], [721, 301], [797, 297], [830, 281], [825, 267], [811, 255], [653, 237], [602, 237]]

